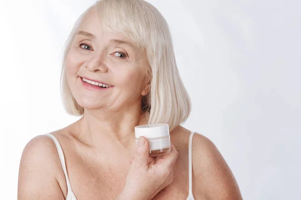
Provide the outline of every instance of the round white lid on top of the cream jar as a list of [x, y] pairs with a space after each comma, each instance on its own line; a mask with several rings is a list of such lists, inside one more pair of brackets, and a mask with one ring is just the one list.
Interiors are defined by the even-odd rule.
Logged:
[[145, 136], [146, 138], [163, 137], [169, 135], [168, 123], [148, 123], [135, 126], [135, 137]]

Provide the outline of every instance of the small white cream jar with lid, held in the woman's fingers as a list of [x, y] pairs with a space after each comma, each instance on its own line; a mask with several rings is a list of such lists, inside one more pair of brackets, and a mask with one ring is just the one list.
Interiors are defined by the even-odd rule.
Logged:
[[136, 145], [139, 136], [149, 142], [149, 156], [163, 155], [171, 151], [171, 138], [168, 123], [151, 123], [137, 125], [135, 128]]

